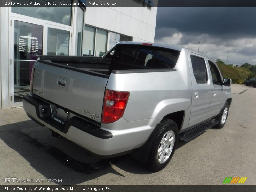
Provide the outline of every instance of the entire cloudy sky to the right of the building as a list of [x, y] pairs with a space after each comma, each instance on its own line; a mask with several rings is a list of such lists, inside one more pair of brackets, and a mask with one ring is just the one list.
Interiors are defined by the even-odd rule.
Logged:
[[256, 7], [158, 7], [155, 42], [256, 65]]

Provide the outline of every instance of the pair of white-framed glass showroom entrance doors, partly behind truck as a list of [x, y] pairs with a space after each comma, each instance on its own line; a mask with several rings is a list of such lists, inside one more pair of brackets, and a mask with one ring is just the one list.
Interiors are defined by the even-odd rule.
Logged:
[[[60, 27], [48, 21], [12, 19], [13, 52], [10, 67], [11, 107], [22, 106], [24, 95], [30, 92], [32, 67], [41, 55], [70, 55], [71, 27]], [[39, 25], [38, 25], [39, 24]], [[44, 45], [44, 46], [43, 46]]]

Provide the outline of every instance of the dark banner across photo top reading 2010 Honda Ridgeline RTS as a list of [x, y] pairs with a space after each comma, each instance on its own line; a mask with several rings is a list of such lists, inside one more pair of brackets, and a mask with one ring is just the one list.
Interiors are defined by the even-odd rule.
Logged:
[[253, 0], [1, 0], [1, 7], [256, 7]]

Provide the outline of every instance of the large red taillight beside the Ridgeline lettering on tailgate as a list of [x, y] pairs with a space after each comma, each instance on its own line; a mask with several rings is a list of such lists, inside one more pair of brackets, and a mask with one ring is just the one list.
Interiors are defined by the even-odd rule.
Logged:
[[102, 123], [112, 123], [124, 114], [130, 92], [105, 91]]

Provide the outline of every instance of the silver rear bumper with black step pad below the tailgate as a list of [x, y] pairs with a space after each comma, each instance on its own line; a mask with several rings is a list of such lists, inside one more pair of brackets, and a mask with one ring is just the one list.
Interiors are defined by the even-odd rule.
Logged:
[[[38, 124], [47, 126], [52, 131], [100, 156], [131, 152], [133, 149], [141, 147], [152, 132], [149, 127], [146, 130], [135, 128], [136, 131], [132, 132], [127, 132], [128, 130], [111, 131], [78, 116], [71, 117], [65, 125], [62, 125], [51, 118], [49, 103], [30, 95], [23, 97], [23, 108], [27, 115]], [[48, 113], [42, 114], [42, 108], [46, 109]]]

